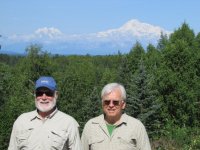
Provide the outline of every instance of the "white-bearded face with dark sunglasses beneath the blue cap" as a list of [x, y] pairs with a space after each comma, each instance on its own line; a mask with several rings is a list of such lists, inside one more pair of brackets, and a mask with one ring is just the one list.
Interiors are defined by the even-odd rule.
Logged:
[[35, 92], [35, 105], [41, 112], [48, 112], [56, 105], [56, 93], [48, 88], [39, 88]]

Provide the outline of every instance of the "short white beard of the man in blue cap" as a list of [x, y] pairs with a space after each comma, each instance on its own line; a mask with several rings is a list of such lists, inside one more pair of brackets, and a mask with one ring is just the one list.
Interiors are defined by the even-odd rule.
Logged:
[[52, 101], [49, 100], [43, 101], [41, 99], [39, 100], [35, 99], [35, 106], [41, 112], [48, 112], [56, 106], [56, 101], [57, 101], [56, 97], [54, 97]]

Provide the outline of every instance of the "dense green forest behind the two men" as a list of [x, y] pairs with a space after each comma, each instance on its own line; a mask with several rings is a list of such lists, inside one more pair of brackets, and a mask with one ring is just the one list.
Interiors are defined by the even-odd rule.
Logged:
[[52, 55], [41, 45], [26, 55], [0, 54], [0, 149], [6, 150], [16, 118], [35, 109], [39, 76], [57, 82], [58, 108], [80, 125], [102, 113], [100, 93], [110, 82], [127, 91], [125, 113], [145, 125], [153, 150], [200, 149], [200, 33], [183, 23], [158, 44], [133, 43], [116, 55]]

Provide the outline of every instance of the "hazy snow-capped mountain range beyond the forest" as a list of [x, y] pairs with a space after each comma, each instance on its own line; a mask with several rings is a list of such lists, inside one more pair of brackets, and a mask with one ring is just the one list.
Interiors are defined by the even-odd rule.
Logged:
[[24, 54], [26, 47], [31, 44], [39, 44], [43, 50], [61, 55], [127, 53], [136, 41], [144, 47], [149, 43], [156, 45], [161, 33], [170, 35], [171, 32], [135, 19], [116, 29], [88, 34], [67, 35], [54, 27], [42, 27], [28, 35], [2, 35], [0, 53]]

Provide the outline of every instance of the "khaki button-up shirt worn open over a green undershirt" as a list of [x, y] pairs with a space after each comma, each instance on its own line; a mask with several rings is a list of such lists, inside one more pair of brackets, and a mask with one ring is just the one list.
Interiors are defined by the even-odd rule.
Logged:
[[144, 125], [126, 114], [122, 115], [111, 136], [104, 115], [89, 120], [81, 141], [84, 150], [151, 150]]

